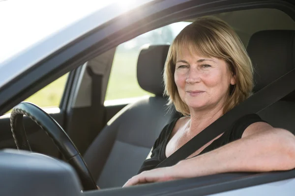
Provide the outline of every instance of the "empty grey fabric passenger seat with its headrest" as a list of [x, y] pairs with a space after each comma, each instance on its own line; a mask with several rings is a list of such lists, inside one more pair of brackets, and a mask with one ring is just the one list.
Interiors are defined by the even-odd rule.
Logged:
[[179, 114], [163, 98], [162, 73], [169, 45], [142, 49], [137, 64], [139, 85], [155, 97], [124, 107], [94, 139], [84, 156], [100, 188], [122, 186], [137, 174], [164, 126]]

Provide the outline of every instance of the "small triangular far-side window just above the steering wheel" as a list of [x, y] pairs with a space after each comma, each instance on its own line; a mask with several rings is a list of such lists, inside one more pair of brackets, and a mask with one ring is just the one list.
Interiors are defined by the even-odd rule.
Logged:
[[68, 73], [59, 77], [57, 80], [45, 86], [25, 101], [36, 104], [41, 108], [45, 107], [59, 107]]

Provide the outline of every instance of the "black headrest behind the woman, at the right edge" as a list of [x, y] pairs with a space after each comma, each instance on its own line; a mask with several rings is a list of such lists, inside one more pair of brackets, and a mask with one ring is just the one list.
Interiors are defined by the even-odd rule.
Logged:
[[257, 92], [294, 69], [295, 31], [259, 31], [250, 38], [247, 51], [254, 67], [253, 91]]

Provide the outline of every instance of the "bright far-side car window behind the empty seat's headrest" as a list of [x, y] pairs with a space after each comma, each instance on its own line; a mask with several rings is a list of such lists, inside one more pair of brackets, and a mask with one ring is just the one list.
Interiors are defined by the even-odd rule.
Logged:
[[105, 100], [152, 95], [143, 90], [137, 82], [136, 67], [140, 49], [146, 44], [170, 44], [189, 24], [190, 22], [179, 22], [163, 26], [119, 45], [115, 52]]

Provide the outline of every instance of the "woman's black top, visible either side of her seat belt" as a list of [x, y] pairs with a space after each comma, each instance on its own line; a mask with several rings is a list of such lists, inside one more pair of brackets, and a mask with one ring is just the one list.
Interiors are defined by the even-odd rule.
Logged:
[[[159, 163], [161, 163], [167, 158], [165, 153], [166, 146], [169, 142], [168, 140], [170, 138], [172, 130], [178, 119], [179, 118], [173, 120], [171, 123], [167, 124], [163, 128], [158, 139], [155, 141], [152, 147], [150, 158], [144, 161], [138, 173], [154, 169]], [[250, 124], [256, 123], [256, 122], [265, 122], [265, 121], [263, 121], [257, 114], [249, 114], [249, 115], [243, 116], [242, 118], [238, 119], [235, 123], [233, 123], [232, 126], [227, 131], [225, 131], [221, 137], [214, 140], [209, 146], [207, 146], [198, 155], [204, 154], [208, 151], [214, 150], [218, 147], [224, 146], [230, 142], [240, 139], [242, 137], [244, 130]]]

